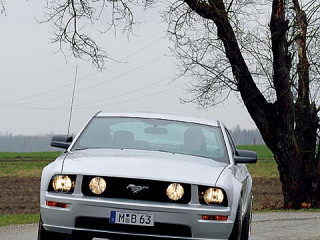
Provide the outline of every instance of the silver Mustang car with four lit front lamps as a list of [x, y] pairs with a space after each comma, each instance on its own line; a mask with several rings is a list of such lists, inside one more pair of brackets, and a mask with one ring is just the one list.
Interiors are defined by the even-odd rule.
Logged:
[[219, 121], [97, 113], [43, 169], [38, 240], [249, 239], [252, 178]]

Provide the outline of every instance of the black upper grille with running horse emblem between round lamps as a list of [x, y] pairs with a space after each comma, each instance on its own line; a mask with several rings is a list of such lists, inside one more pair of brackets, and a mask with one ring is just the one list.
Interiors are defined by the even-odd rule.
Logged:
[[[85, 196], [98, 196], [91, 192], [89, 183], [93, 176], [84, 176], [82, 182], [82, 193]], [[175, 202], [189, 203], [191, 200], [191, 185], [182, 184], [184, 195], [178, 201], [173, 201], [167, 197], [167, 187], [171, 182], [162, 182], [145, 179], [118, 178], [118, 177], [102, 177], [107, 183], [107, 188], [99, 197], [105, 198], [121, 198], [131, 200], [143, 200], [154, 202]], [[140, 191], [134, 193], [135, 187], [141, 187]]]

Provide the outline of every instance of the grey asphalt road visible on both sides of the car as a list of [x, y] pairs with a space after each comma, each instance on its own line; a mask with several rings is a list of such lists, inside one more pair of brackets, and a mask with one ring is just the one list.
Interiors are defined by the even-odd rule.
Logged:
[[[256, 213], [252, 240], [320, 240], [320, 212]], [[36, 240], [37, 224], [0, 228], [0, 240]]]

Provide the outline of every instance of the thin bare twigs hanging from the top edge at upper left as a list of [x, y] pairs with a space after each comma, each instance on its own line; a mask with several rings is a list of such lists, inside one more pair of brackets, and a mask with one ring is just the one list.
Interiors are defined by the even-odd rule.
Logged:
[[96, 43], [89, 32], [93, 24], [99, 24], [98, 32], [107, 32], [122, 26], [122, 32], [130, 34], [135, 24], [133, 9], [136, 5], [148, 7], [153, 0], [47, 0], [45, 20], [52, 24], [52, 42], [59, 50], [71, 51], [76, 58], [91, 60], [98, 69], [104, 67], [107, 53]]

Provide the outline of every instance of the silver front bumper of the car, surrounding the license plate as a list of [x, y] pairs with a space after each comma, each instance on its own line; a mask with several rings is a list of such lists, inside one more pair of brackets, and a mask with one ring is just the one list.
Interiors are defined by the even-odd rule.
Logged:
[[[41, 191], [41, 218], [47, 231], [73, 234], [89, 232], [112, 238], [156, 237], [159, 239], [228, 239], [233, 218], [229, 207], [171, 204], [124, 199], [64, 195]], [[46, 201], [67, 203], [68, 208], [48, 207]], [[154, 214], [155, 226], [111, 224], [111, 211]], [[202, 215], [230, 216], [227, 221], [202, 220]]]

